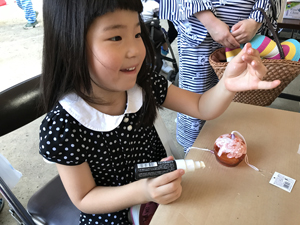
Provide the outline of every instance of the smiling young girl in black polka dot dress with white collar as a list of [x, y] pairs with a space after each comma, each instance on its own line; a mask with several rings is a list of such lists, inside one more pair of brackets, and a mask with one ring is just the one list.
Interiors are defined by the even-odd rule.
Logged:
[[130, 224], [131, 206], [180, 196], [183, 170], [134, 179], [135, 164], [166, 157], [153, 126], [157, 108], [213, 119], [236, 91], [279, 85], [260, 80], [266, 68], [250, 44], [205, 94], [169, 85], [152, 72], [142, 10], [140, 0], [44, 2], [41, 86], [49, 113], [40, 154], [56, 163], [81, 224]]

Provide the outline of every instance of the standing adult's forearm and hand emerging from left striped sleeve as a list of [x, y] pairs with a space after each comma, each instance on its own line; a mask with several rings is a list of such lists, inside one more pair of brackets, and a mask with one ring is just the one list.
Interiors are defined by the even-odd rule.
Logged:
[[237, 48], [239, 43], [230, 33], [229, 26], [219, 20], [210, 10], [195, 13], [195, 17], [205, 26], [214, 41], [227, 48]]

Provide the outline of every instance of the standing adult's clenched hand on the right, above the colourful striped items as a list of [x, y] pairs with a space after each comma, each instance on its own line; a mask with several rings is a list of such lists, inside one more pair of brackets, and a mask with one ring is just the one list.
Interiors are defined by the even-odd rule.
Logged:
[[254, 19], [242, 20], [231, 28], [231, 34], [237, 42], [244, 44], [249, 42], [260, 28], [261, 23], [256, 22]]

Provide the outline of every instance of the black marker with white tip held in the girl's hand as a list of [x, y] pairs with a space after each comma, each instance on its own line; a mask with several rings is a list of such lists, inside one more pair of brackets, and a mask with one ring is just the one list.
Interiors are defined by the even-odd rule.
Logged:
[[177, 169], [191, 172], [200, 168], [205, 168], [204, 162], [194, 161], [192, 159], [140, 163], [135, 166], [135, 179], [139, 180], [143, 178], [158, 177]]

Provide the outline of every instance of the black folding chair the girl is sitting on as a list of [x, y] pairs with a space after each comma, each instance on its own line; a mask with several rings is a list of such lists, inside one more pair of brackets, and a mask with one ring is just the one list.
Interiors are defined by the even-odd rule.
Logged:
[[[40, 75], [0, 92], [0, 137], [45, 113], [39, 107], [39, 82]], [[29, 199], [27, 210], [1, 177], [0, 193], [19, 224], [78, 224], [80, 211], [69, 199], [59, 176], [54, 177]]]

